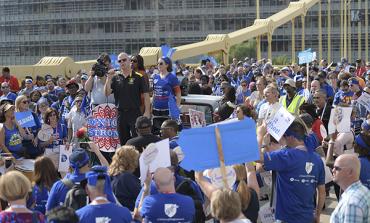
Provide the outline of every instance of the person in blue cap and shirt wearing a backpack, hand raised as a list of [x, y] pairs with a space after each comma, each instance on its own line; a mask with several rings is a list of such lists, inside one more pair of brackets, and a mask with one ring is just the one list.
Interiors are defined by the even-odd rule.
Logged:
[[[94, 143], [88, 144], [91, 151], [98, 156], [100, 163], [108, 166], [107, 160], [101, 154], [97, 145]], [[74, 184], [79, 184], [82, 180], [86, 179], [85, 173], [90, 170], [89, 161], [89, 155], [87, 154], [86, 150], [81, 148], [75, 149], [72, 152], [72, 155], [69, 157], [70, 167], [73, 169], [73, 172], [68, 173], [64, 179], [71, 180]], [[68, 186], [63, 183], [63, 180], [58, 180], [55, 182], [49, 193], [49, 198], [46, 203], [46, 211], [49, 211], [59, 205], [63, 205], [68, 190]], [[116, 203], [113, 193], [108, 194], [108, 200]]]

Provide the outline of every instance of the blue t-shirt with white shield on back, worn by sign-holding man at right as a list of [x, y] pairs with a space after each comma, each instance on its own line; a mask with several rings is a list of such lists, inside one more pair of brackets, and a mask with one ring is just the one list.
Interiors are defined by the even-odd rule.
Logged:
[[264, 164], [266, 170], [277, 171], [276, 219], [287, 223], [312, 223], [314, 194], [318, 185], [325, 184], [320, 156], [287, 148], [265, 153]]

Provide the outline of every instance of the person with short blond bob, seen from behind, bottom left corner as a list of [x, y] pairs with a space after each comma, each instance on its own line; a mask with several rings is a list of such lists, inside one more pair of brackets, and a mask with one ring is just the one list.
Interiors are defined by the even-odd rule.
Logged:
[[29, 191], [31, 182], [18, 171], [9, 171], [0, 177], [0, 198], [9, 204], [9, 207], [0, 213], [0, 222], [46, 222], [42, 213], [27, 208]]

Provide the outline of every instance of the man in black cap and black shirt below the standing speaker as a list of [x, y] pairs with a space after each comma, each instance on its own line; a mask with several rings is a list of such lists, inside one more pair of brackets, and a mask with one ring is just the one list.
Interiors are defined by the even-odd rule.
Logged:
[[139, 153], [142, 153], [149, 143], [161, 140], [158, 136], [152, 134], [152, 122], [149, 118], [145, 116], [138, 117], [135, 127], [139, 136], [129, 139], [126, 145], [135, 146]]

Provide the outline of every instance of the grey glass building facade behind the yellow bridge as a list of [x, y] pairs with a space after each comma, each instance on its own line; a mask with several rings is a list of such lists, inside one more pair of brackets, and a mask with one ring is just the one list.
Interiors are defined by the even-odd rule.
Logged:
[[[260, 0], [260, 17], [267, 18], [288, 4], [288, 0]], [[331, 4], [332, 57], [339, 59], [340, 0]], [[326, 7], [325, 1], [322, 8]], [[316, 50], [317, 10], [317, 5], [310, 9], [305, 22], [306, 48]], [[325, 56], [326, 10], [322, 15]], [[179, 46], [204, 40], [208, 34], [229, 33], [252, 25], [255, 18], [255, 0], [0, 0], [0, 64], [35, 64], [44, 56], [80, 61], [101, 52], [135, 54], [144, 46]], [[300, 19], [295, 31], [299, 51]], [[362, 28], [362, 39], [365, 35]], [[352, 38], [355, 49], [357, 31]], [[266, 57], [267, 38], [262, 38], [261, 49]], [[272, 51], [273, 56], [291, 56], [290, 23], [274, 31]]]

